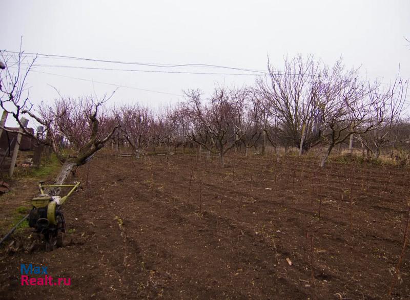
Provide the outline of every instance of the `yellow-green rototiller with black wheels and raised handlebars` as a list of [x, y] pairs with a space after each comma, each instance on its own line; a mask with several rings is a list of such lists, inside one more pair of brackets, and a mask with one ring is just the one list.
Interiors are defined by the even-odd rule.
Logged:
[[[60, 185], [43, 185], [43, 183], [40, 182], [38, 185], [40, 195], [31, 200], [33, 208], [29, 213], [28, 219], [29, 226], [34, 228], [35, 232], [40, 235], [40, 239], [43, 235], [46, 241], [46, 250], [52, 251], [55, 246], [63, 246], [63, 232], [66, 230], [66, 222], [61, 205], [66, 202], [81, 182]], [[68, 194], [64, 197], [44, 194], [44, 188], [61, 187], [71, 187]]]

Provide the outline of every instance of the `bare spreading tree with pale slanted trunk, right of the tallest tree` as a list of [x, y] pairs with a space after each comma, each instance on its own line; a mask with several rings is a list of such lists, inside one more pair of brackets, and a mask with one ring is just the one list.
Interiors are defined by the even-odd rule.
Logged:
[[326, 146], [321, 167], [337, 144], [345, 142], [352, 134], [367, 133], [380, 124], [381, 119], [371, 117], [371, 107], [376, 101], [371, 95], [377, 87], [377, 83], [371, 86], [360, 80], [358, 69], [345, 72], [339, 63], [330, 72], [323, 73], [321, 100], [316, 112], [322, 144]]

